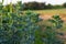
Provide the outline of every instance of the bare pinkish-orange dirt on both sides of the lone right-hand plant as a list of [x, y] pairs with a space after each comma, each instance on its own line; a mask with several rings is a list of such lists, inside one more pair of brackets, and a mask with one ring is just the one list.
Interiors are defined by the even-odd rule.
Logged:
[[[46, 14], [41, 14], [40, 18], [43, 20], [48, 20], [52, 19], [53, 14], [46, 13]], [[66, 22], [66, 14], [61, 13], [59, 16], [62, 18], [63, 21]]]

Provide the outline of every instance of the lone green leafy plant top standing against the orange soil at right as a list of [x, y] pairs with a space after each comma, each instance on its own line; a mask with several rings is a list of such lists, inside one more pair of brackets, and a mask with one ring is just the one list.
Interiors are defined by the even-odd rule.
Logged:
[[53, 26], [56, 29], [61, 29], [63, 26], [63, 20], [59, 18], [59, 15], [54, 15], [52, 20], [48, 20], [53, 23]]

